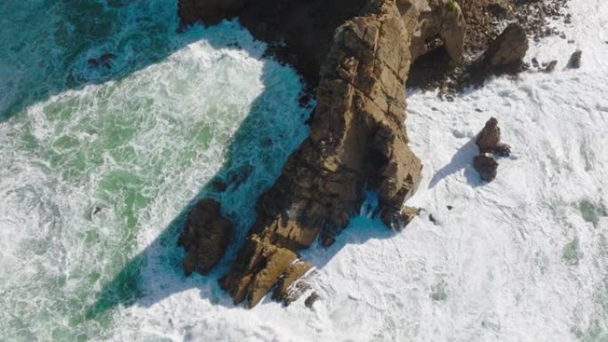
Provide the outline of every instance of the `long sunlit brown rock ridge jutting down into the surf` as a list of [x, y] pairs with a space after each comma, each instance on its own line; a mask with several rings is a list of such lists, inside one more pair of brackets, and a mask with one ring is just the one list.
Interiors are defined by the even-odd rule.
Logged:
[[[297, 258], [286, 251], [308, 247], [317, 235], [331, 244], [359, 208], [366, 187], [379, 193], [382, 219], [393, 227], [399, 223], [399, 210], [418, 187], [421, 169], [403, 125], [408, 38], [389, 1], [372, 2], [337, 30], [321, 71], [310, 137], [260, 197], [247, 245], [221, 281], [236, 303], [249, 298], [253, 306], [270, 290]], [[268, 249], [284, 250], [282, 262], [268, 257], [274, 255]]]

